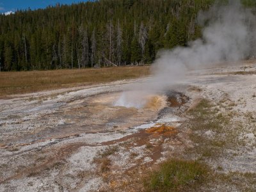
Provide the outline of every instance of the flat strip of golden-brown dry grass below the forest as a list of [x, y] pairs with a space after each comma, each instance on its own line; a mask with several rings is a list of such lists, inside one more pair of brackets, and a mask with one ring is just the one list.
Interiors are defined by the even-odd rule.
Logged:
[[42, 90], [106, 83], [122, 79], [135, 79], [146, 77], [149, 74], [149, 66], [1, 72], [0, 97], [19, 93], [32, 93]]

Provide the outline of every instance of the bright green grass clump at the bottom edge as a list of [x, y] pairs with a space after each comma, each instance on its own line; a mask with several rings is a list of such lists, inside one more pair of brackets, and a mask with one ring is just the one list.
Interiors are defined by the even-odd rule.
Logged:
[[147, 191], [184, 191], [207, 180], [209, 169], [196, 161], [169, 159], [145, 180]]

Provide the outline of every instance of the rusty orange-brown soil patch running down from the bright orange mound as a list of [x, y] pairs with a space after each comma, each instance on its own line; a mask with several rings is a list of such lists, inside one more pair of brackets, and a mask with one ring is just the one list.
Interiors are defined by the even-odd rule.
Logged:
[[[118, 144], [130, 150], [134, 147], [145, 147], [145, 156], [152, 159], [152, 161], [145, 163], [143, 158], [135, 159], [136, 154], [132, 156], [131, 163], [136, 164], [131, 168], [125, 170], [125, 172], [118, 171], [118, 167], [109, 166], [109, 172], [104, 172], [104, 179], [108, 180], [108, 188], [104, 188], [102, 191], [141, 191], [143, 190], [143, 178], [147, 174], [150, 168], [156, 166], [156, 162], [161, 159], [164, 152], [163, 144], [168, 142], [166, 139], [172, 138], [172, 140], [179, 140], [177, 138], [177, 129], [172, 126], [156, 124], [156, 127], [150, 127], [145, 130], [141, 130], [120, 140], [108, 141], [101, 143], [102, 145], [114, 145]], [[98, 164], [99, 170], [101, 161]], [[102, 173], [100, 173], [102, 175]]]

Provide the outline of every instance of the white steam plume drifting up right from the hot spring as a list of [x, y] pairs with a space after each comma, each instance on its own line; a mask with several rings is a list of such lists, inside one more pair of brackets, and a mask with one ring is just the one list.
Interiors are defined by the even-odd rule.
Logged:
[[146, 95], [166, 91], [184, 79], [190, 68], [252, 57], [256, 40], [253, 34], [255, 20], [252, 12], [243, 8], [238, 0], [200, 12], [198, 22], [207, 23], [202, 38], [191, 42], [189, 47], [160, 51], [152, 66], [154, 76], [150, 82], [124, 92], [115, 105], [140, 108]]

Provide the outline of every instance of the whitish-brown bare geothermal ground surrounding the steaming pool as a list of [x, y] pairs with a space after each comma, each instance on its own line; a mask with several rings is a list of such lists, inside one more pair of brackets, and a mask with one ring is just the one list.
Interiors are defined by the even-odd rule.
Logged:
[[[143, 191], [148, 171], [170, 157], [220, 176], [200, 191], [256, 191], [256, 62], [191, 70], [143, 109], [113, 105], [147, 81], [0, 100], [0, 191]], [[196, 124], [189, 111], [201, 100], [221, 131]]]

